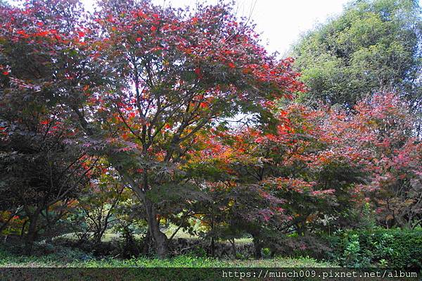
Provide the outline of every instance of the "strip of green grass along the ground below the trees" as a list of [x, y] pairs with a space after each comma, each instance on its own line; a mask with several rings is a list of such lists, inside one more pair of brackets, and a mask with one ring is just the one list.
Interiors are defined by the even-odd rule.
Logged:
[[44, 256], [18, 256], [0, 249], [0, 268], [324, 268], [333, 263], [316, 261], [313, 258], [271, 258], [262, 260], [219, 260], [194, 256], [174, 258], [116, 258], [98, 259], [81, 251], [64, 249]]

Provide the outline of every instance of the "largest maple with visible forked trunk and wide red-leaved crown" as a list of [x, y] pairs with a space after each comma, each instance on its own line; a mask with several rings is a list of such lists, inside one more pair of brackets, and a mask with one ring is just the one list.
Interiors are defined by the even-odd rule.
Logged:
[[227, 5], [190, 13], [105, 1], [89, 22], [78, 5], [30, 1], [23, 10], [2, 10], [1, 65], [9, 80], [2, 89], [30, 81], [30, 95], [52, 96], [79, 125], [75, 142], [105, 156], [142, 201], [158, 256], [166, 256], [147, 192], [184, 187], [179, 165], [199, 132], [237, 113], [268, 116], [268, 100], [302, 91], [302, 83], [292, 60], [266, 54]]

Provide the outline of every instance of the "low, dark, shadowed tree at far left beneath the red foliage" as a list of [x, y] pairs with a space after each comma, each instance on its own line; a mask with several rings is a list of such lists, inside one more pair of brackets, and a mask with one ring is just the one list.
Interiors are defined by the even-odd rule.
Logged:
[[1, 209], [25, 218], [27, 254], [39, 230], [51, 228], [68, 211], [95, 163], [84, 158], [84, 151], [64, 144], [68, 132], [59, 122], [30, 121], [4, 124], [0, 137]]

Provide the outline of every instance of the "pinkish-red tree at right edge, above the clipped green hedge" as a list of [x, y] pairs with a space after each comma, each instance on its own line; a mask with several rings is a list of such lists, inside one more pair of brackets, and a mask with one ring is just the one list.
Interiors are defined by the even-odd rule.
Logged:
[[355, 106], [347, 130], [368, 151], [371, 177], [361, 188], [373, 204], [378, 223], [416, 227], [421, 223], [421, 140], [414, 136], [414, 115], [395, 94], [377, 94]]

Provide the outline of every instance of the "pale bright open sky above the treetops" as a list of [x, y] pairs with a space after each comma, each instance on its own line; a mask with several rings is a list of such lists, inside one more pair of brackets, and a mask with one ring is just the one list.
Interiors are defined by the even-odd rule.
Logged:
[[[341, 13], [350, 0], [236, 0], [237, 15], [245, 15], [257, 25], [262, 44], [267, 51], [286, 54], [303, 32], [316, 23], [324, 23], [330, 16]], [[422, 0], [421, 0], [422, 1]], [[87, 9], [94, 0], [82, 0]], [[153, 0], [155, 4], [174, 7], [195, 6], [196, 0]], [[215, 4], [217, 0], [207, 0]]]

